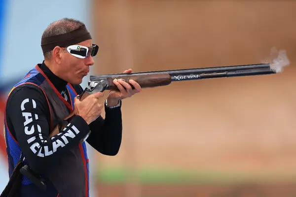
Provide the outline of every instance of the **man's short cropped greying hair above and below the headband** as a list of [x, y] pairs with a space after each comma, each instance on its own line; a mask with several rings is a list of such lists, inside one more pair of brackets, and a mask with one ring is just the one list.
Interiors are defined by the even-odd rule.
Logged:
[[[81, 21], [71, 19], [71, 18], [63, 18], [49, 24], [49, 26], [44, 30], [42, 34], [42, 38], [53, 36], [53, 35], [69, 33], [83, 26], [85, 26], [85, 24], [82, 23]], [[43, 53], [44, 60], [50, 59], [51, 55], [52, 55], [52, 51]]]

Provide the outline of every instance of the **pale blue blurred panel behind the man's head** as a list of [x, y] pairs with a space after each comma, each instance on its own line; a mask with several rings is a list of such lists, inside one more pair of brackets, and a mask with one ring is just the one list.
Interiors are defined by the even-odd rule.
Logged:
[[[4, 6], [0, 59], [1, 84], [18, 80], [32, 67], [42, 63], [43, 56], [40, 47], [41, 35], [53, 21], [68, 17], [80, 20], [92, 31], [91, 0], [2, 0]], [[88, 76], [86, 76], [88, 78]], [[86, 80], [81, 84], [85, 87]], [[9, 91], [11, 87], [7, 87]], [[2, 113], [2, 112], [1, 112]], [[1, 120], [2, 121], [2, 120]], [[2, 132], [1, 132], [2, 134]], [[90, 168], [92, 168], [92, 150], [88, 148]], [[8, 182], [7, 156], [0, 156], [0, 191]], [[90, 169], [91, 171], [91, 169]], [[90, 186], [90, 196], [95, 196]]]

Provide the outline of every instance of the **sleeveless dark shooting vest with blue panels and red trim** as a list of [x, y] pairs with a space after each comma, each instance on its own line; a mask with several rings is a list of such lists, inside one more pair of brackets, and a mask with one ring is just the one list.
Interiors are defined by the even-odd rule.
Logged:
[[[29, 71], [26, 77], [12, 88], [10, 93], [14, 90], [14, 88], [21, 85], [37, 86], [42, 90], [47, 99], [47, 104], [50, 110], [51, 131], [58, 124], [63, 124], [63, 119], [73, 111], [74, 97], [77, 93], [72, 85], [69, 83], [67, 84], [67, 89], [71, 99], [70, 105], [60, 95], [38, 65]], [[4, 124], [9, 163], [9, 176], [11, 176], [14, 167], [20, 159], [21, 149], [7, 127], [6, 116]], [[65, 124], [67, 125], [68, 122], [64, 122], [63, 125]], [[75, 128], [72, 128], [72, 131], [79, 132], [77, 129], [75, 130]], [[80, 142], [68, 153], [64, 154], [62, 161], [60, 161], [56, 167], [50, 169], [43, 176], [47, 177], [52, 182], [55, 189], [59, 192], [59, 197], [89, 197], [89, 164], [85, 142]], [[33, 183], [27, 177], [23, 177], [22, 184], [29, 185]]]

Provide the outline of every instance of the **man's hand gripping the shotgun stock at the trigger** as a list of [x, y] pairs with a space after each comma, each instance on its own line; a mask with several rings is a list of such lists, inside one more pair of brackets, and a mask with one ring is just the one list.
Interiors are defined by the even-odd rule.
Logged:
[[74, 111], [75, 115], [81, 116], [89, 125], [96, 120], [102, 113], [103, 104], [100, 104], [100, 97], [103, 97], [102, 92], [89, 95], [82, 101], [74, 98]]

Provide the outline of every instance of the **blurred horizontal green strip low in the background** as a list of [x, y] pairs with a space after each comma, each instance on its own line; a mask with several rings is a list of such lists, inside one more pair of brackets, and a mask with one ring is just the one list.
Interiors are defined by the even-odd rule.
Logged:
[[97, 181], [124, 183], [130, 180], [145, 184], [242, 184], [242, 183], [296, 183], [296, 174], [287, 172], [236, 172], [184, 169], [145, 168], [126, 170], [120, 167], [100, 169]]

